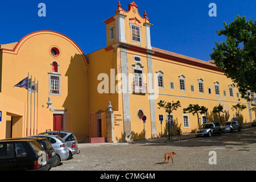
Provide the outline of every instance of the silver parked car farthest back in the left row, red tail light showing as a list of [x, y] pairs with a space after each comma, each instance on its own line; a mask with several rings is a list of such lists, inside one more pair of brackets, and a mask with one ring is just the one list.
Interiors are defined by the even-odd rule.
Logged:
[[68, 132], [68, 131], [46, 131], [44, 133], [40, 133], [41, 135], [47, 134], [47, 135], [57, 135], [60, 138], [63, 138], [67, 144], [68, 144], [68, 150], [70, 153], [69, 159], [75, 155], [79, 154], [80, 150], [78, 147], [78, 142], [75, 134], [73, 132]]

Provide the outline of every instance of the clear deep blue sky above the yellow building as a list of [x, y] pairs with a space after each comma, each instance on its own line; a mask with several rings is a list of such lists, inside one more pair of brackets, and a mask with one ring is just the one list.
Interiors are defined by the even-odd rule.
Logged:
[[[121, 0], [121, 7], [133, 0]], [[46, 4], [46, 17], [38, 16], [38, 4]], [[113, 16], [117, 0], [110, 1], [1, 1], [0, 44], [18, 42], [38, 30], [52, 30], [73, 39], [85, 54], [106, 46], [106, 25]], [[136, 0], [139, 13], [144, 10], [151, 27], [151, 46], [201, 60], [209, 60], [214, 42], [224, 40], [216, 30], [239, 14], [256, 19], [256, 1], [152, 1]], [[217, 17], [210, 17], [210, 3], [217, 5]]]

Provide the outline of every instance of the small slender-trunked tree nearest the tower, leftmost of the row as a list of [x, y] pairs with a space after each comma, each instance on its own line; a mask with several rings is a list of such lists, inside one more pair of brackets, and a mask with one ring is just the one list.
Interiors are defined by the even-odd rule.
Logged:
[[[165, 101], [162, 101], [162, 100], [158, 102], [158, 105], [159, 105], [158, 109], [160, 109], [160, 107], [163, 107], [166, 110], [166, 113], [168, 113], [169, 115], [169, 120], [171, 118], [172, 111], [177, 110], [181, 106], [180, 101], [177, 101], [177, 102], [172, 101], [172, 102], [166, 103]], [[167, 129], [168, 140], [170, 140], [170, 121], [168, 121], [167, 128], [168, 128]]]

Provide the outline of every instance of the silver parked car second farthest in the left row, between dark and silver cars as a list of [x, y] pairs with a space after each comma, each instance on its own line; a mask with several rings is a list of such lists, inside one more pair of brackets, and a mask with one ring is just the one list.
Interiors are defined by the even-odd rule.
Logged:
[[69, 159], [69, 150], [67, 146], [67, 142], [64, 139], [60, 138], [57, 135], [35, 135], [31, 137], [39, 137], [39, 138], [46, 138], [51, 142], [52, 147], [54, 148], [56, 155], [58, 156], [58, 162], [60, 163], [61, 160], [68, 160]]

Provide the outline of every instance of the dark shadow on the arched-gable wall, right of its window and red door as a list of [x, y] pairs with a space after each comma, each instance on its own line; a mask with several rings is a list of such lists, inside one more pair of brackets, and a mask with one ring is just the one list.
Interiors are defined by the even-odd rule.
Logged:
[[77, 138], [81, 139], [83, 133], [88, 136], [82, 138], [89, 137], [88, 67], [82, 55], [71, 56], [65, 77], [68, 85], [61, 85], [61, 88], [68, 90], [63, 107], [71, 113], [71, 121], [67, 121], [71, 122], [70, 130], [75, 131]]

